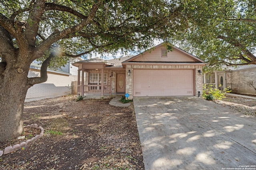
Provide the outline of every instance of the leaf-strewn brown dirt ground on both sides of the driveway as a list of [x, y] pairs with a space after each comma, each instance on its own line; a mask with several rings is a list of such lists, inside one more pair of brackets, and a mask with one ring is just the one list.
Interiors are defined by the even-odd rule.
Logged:
[[[4, 170], [144, 170], [133, 105], [115, 107], [110, 99], [76, 96], [27, 102], [24, 125], [44, 128], [38, 141], [0, 157]], [[227, 96], [215, 101], [234, 112], [256, 117], [256, 100]], [[25, 129], [27, 140], [39, 134]], [[21, 141], [0, 143], [0, 150]]]

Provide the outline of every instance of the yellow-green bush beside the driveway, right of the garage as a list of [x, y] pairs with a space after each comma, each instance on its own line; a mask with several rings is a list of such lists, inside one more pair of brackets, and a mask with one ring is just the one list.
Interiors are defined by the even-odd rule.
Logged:
[[226, 98], [226, 93], [231, 92], [231, 90], [228, 90], [228, 88], [225, 88], [223, 91], [221, 91], [219, 89], [213, 88], [213, 86], [208, 86], [208, 88], [204, 86], [203, 98], [206, 100], [221, 100], [222, 98]]

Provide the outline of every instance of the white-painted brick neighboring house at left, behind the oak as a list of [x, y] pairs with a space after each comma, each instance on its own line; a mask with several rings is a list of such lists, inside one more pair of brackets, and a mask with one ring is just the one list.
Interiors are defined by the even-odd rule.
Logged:
[[[80, 58], [76, 59], [76, 61], [81, 60]], [[28, 77], [40, 76], [40, 68], [40, 64], [30, 64]], [[35, 84], [28, 89], [25, 102], [71, 94], [71, 83], [77, 81], [77, 68], [72, 67], [68, 62], [65, 67], [62, 67], [62, 70], [48, 69], [47, 75], [46, 82]]]

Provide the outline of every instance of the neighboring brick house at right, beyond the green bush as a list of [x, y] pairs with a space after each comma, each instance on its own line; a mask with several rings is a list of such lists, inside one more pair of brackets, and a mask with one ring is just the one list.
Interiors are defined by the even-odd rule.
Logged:
[[214, 73], [204, 74], [204, 84], [213, 85], [220, 90], [224, 88], [231, 89], [232, 92], [238, 94], [255, 95], [254, 88], [248, 85], [249, 82], [254, 83], [256, 88], [256, 65], [230, 66], [223, 71], [215, 71]]

